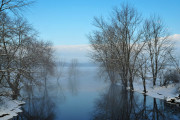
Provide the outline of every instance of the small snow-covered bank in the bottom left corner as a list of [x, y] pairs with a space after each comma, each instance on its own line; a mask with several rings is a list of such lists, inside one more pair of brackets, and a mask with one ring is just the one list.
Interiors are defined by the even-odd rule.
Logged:
[[8, 120], [22, 112], [21, 105], [25, 102], [0, 97], [0, 120]]

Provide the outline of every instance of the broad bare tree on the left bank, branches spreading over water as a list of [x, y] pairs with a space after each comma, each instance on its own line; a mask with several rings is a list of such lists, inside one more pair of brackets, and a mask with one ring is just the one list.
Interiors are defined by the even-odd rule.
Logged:
[[1, 84], [12, 90], [16, 99], [24, 84], [40, 83], [40, 73], [53, 73], [51, 44], [37, 41], [36, 32], [22, 18], [10, 19], [1, 14]]

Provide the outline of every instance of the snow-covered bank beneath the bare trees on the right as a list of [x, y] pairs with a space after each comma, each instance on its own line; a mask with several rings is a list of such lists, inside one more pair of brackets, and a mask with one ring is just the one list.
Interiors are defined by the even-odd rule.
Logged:
[[[180, 103], [180, 99], [178, 98], [179, 94], [177, 92], [179, 84], [170, 84], [168, 86], [152, 86], [150, 81], [147, 81], [146, 90], [148, 91], [146, 95], [163, 99], [166, 101], [174, 100], [173, 102]], [[134, 91], [139, 93], [143, 92], [144, 88], [142, 82], [134, 82]]]

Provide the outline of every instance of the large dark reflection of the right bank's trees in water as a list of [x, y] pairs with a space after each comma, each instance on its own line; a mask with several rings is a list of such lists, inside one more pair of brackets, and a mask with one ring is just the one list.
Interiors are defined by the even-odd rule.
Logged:
[[165, 101], [129, 92], [119, 85], [111, 84], [108, 91], [95, 101], [92, 119], [179, 120], [179, 112], [173, 111]]

